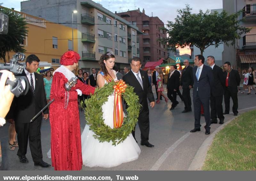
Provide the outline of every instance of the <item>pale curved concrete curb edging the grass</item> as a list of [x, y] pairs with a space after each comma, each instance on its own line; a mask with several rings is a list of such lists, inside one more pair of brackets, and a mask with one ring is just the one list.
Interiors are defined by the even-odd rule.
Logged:
[[201, 170], [201, 168], [204, 165], [204, 161], [205, 161], [205, 157], [207, 155], [207, 151], [208, 151], [209, 147], [211, 146], [215, 135], [220, 130], [222, 130], [228, 123], [230, 123], [231, 121], [233, 121], [236, 118], [237, 117], [233, 117], [233, 118], [229, 119], [227, 122], [225, 122], [224, 124], [219, 126], [214, 132], [211, 133], [211, 135], [208, 138], [206, 138], [204, 140], [203, 144], [198, 149], [193, 161], [191, 162], [188, 170]]

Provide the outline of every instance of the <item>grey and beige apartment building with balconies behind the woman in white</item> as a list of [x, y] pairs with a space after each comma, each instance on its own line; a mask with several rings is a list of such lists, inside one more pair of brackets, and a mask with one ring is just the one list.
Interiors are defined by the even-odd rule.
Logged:
[[[77, 12], [72, 13], [74, 10]], [[91, 0], [29, 0], [21, 2], [21, 11], [66, 26], [73, 24], [81, 56], [79, 67], [86, 72], [91, 68], [99, 70], [100, 56], [107, 51], [114, 52], [120, 69], [129, 66], [132, 57], [139, 56], [137, 35], [143, 33], [138, 27]]]

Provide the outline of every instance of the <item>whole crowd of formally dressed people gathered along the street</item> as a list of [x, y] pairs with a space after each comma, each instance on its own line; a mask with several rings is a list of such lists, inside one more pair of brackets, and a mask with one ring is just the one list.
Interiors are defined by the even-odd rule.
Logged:
[[[47, 119], [48, 116], [51, 125], [50, 153], [52, 166], [55, 170], [81, 170], [83, 164], [89, 167], [114, 167], [124, 162], [136, 160], [140, 155], [140, 147], [135, 139], [135, 127], [124, 142], [117, 146], [113, 146], [111, 142], [100, 142], [95, 139], [94, 132], [90, 130], [89, 125], [85, 126], [82, 135], [80, 133], [78, 102], [94, 94], [96, 87], [101, 88], [113, 80], [123, 79], [126, 84], [134, 87], [134, 93], [138, 95], [139, 103], [142, 105], [138, 117], [141, 132], [140, 145], [149, 148], [154, 147], [154, 145], [148, 141], [149, 109], [147, 99], [150, 107], [153, 108], [155, 106], [153, 85], [156, 89], [156, 104], [159, 104], [164, 97], [166, 103], [168, 99], [172, 102], [170, 110], [173, 110], [179, 104], [177, 101], [178, 94], [184, 102], [182, 113], [192, 111], [190, 90], [193, 88], [195, 124], [190, 132], [201, 131], [201, 108], [204, 110], [206, 122], [205, 134], [210, 134], [210, 125], [218, 123], [218, 119], [219, 124], [223, 124], [224, 115], [230, 112], [230, 97], [233, 100], [232, 111], [235, 116], [238, 114], [237, 93], [240, 75], [237, 70], [231, 68], [229, 62], [224, 63], [223, 71], [215, 64], [213, 56], [207, 57], [206, 62], [209, 66], [204, 64], [205, 58], [202, 55], [195, 56], [194, 67], [189, 65], [188, 60], [184, 60], [185, 67], [182, 72], [177, 70], [176, 65], [171, 65], [166, 82], [167, 96], [163, 93], [164, 76], [161, 68], [156, 66], [156, 71], [153, 73], [150, 70], [144, 71], [141, 69], [139, 57], [132, 58], [131, 70], [129, 67], [125, 67], [124, 75], [119, 72], [115, 65], [116, 60], [113, 52], [107, 52], [100, 57], [100, 71], [96, 72], [96, 69], [92, 68], [91, 75], [88, 72], [83, 72], [82, 69], [78, 69], [77, 75], [73, 73], [78, 67], [79, 59], [80, 56], [76, 52], [65, 52], [60, 58], [61, 66], [53, 72], [53, 75], [51, 71], [47, 71], [43, 78], [42, 75], [35, 73], [40, 62], [39, 58], [36, 55], [30, 55], [26, 59], [26, 67], [22, 72], [22, 75], [26, 76], [30, 83], [28, 93], [15, 97], [13, 101], [13, 94], [6, 93], [8, 95], [6, 99], [9, 102], [11, 100], [12, 105], [3, 108], [4, 112], [1, 111], [0, 119], [6, 117], [6, 120], [11, 123], [9, 149], [18, 148], [17, 155], [20, 162], [29, 162], [26, 157], [29, 142], [34, 165], [51, 166], [43, 161], [40, 132], [42, 119]], [[3, 75], [0, 88], [1, 91], [6, 92], [8, 88], [3, 89], [4, 80], [7, 77], [9, 79], [14, 79], [14, 77], [8, 71], [1, 72]], [[251, 94], [251, 87], [255, 90], [253, 68], [250, 67], [248, 72], [244, 70], [243, 75], [244, 91], [248, 86], [247, 94]], [[77, 83], [66, 90], [64, 85], [75, 76], [78, 79]], [[180, 89], [182, 89], [182, 95]], [[223, 95], [224, 111], [222, 108]], [[42, 115], [36, 117], [34, 121], [30, 121], [53, 99], [52, 104], [43, 111]], [[102, 105], [104, 123], [110, 128], [113, 128], [113, 109], [114, 94], [111, 94], [108, 96], [108, 101]]]

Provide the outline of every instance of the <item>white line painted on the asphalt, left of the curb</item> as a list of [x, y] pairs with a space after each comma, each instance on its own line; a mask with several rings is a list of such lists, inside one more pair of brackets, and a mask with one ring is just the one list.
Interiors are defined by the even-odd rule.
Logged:
[[159, 167], [163, 164], [163, 162], [165, 161], [165, 159], [170, 155], [170, 153], [172, 153], [172, 151], [182, 142], [184, 141], [189, 135], [191, 134], [191, 132], [186, 133], [185, 135], [183, 135], [179, 140], [177, 140], [175, 143], [172, 144], [171, 147], [169, 147], [164, 154], [156, 161], [156, 163], [151, 167], [150, 170], [158, 170]]

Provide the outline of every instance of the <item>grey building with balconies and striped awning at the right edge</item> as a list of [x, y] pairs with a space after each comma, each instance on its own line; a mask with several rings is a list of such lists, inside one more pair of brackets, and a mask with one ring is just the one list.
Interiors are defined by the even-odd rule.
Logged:
[[245, 68], [249, 66], [256, 69], [256, 0], [225, 0], [223, 1], [223, 10], [229, 14], [243, 10], [239, 19], [244, 18], [240, 25], [252, 28], [244, 34], [234, 46], [224, 45], [222, 53], [222, 62], [229, 61], [235, 69], [238, 69], [240, 75]]

